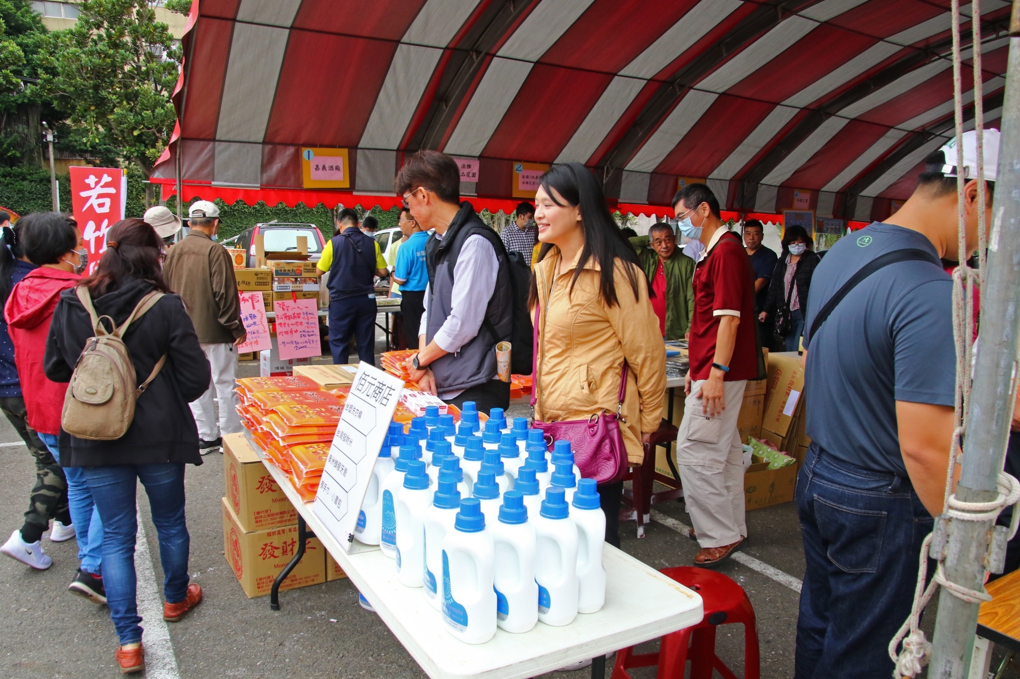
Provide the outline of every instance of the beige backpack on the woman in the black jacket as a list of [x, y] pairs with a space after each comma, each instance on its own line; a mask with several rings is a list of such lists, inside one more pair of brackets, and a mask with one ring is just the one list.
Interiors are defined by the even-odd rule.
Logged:
[[80, 439], [113, 441], [126, 434], [135, 419], [135, 401], [149, 383], [156, 379], [166, 362], [166, 354], [163, 354], [152, 369], [149, 379], [136, 387], [138, 378], [135, 375], [135, 363], [132, 362], [128, 346], [121, 338], [132, 322], [152, 308], [163, 293], [152, 291], [142, 297], [123, 325], [110, 333], [106, 331], [101, 318], [108, 319], [111, 326], [114, 325], [113, 319], [96, 316], [89, 288], [80, 285], [75, 292], [92, 318], [96, 335], [86, 342], [74, 363], [74, 372], [64, 396], [60, 426]]

